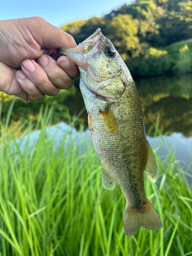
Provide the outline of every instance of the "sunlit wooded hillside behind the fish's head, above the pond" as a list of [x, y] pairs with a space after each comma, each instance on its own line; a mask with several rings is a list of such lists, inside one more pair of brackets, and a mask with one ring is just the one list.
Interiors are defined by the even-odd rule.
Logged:
[[[102, 17], [77, 20], [62, 29], [79, 44], [98, 27], [135, 77], [192, 72], [190, 0], [136, 0]], [[182, 40], [187, 40], [188, 52], [177, 49]]]

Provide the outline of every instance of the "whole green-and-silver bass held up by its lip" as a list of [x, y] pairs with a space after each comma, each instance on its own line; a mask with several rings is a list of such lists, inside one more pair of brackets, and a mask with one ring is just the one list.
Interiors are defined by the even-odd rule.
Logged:
[[113, 190], [117, 182], [126, 200], [126, 236], [136, 234], [141, 226], [162, 228], [156, 209], [145, 195], [144, 173], [155, 183], [158, 166], [146, 138], [129, 69], [100, 29], [75, 48], [57, 49], [57, 54], [68, 56], [79, 67], [90, 137], [101, 160], [102, 185]]

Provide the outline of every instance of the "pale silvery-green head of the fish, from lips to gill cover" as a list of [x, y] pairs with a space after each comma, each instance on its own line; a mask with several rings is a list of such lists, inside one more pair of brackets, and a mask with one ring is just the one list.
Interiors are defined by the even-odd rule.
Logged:
[[123, 93], [126, 73], [123, 70], [127, 68], [100, 29], [77, 47], [60, 48], [57, 53], [68, 56], [77, 64], [83, 83], [95, 95], [116, 101]]

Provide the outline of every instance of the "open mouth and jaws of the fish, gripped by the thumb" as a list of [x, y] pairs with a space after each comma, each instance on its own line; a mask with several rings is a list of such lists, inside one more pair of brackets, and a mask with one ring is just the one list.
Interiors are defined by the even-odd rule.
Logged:
[[77, 66], [86, 68], [87, 59], [90, 55], [93, 56], [94, 53], [98, 52], [102, 38], [104, 36], [101, 33], [101, 29], [98, 28], [95, 33], [81, 42], [77, 47], [59, 48], [57, 49], [57, 54], [59, 56], [68, 56]]

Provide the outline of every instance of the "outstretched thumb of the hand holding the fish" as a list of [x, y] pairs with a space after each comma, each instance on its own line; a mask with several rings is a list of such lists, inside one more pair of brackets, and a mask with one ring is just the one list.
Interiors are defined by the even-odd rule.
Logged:
[[42, 48], [56, 50], [61, 47], [68, 48], [77, 46], [71, 35], [46, 22], [45, 19], [40, 17], [25, 19], [25, 25], [28, 27], [35, 41]]

